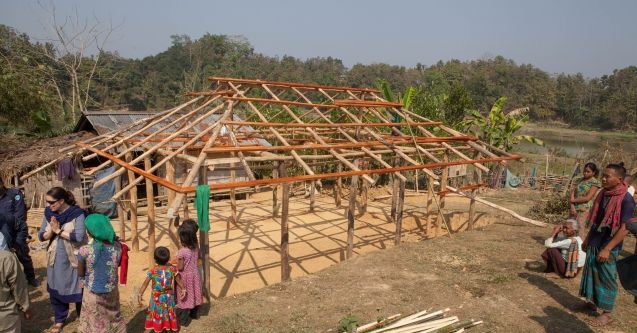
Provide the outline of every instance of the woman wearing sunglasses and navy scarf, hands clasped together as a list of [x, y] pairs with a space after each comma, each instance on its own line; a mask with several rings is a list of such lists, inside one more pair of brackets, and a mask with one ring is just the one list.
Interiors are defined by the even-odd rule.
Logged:
[[77, 274], [77, 250], [86, 241], [84, 210], [75, 205], [73, 194], [61, 187], [46, 193], [48, 207], [38, 232], [47, 245], [47, 291], [55, 313], [55, 324], [49, 329], [62, 330], [69, 314], [69, 305], [75, 303], [79, 317], [82, 309], [82, 285]]

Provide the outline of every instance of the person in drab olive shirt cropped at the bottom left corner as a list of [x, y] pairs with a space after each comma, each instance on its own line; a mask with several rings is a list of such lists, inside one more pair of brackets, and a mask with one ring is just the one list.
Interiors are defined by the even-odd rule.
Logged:
[[20, 314], [31, 319], [29, 292], [15, 254], [0, 250], [0, 333], [20, 333]]

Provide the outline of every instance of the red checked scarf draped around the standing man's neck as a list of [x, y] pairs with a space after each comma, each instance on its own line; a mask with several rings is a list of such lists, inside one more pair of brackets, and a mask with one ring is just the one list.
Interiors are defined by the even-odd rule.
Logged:
[[610, 228], [611, 236], [615, 235], [621, 223], [622, 201], [627, 191], [628, 186], [624, 183], [619, 184], [612, 190], [602, 189], [602, 192], [597, 196], [597, 200], [595, 200], [593, 208], [591, 208], [591, 212], [588, 215], [588, 222], [591, 225], [597, 222], [597, 214], [599, 213], [602, 200], [608, 198], [606, 210], [604, 210], [604, 217], [602, 217], [602, 221], [599, 224], [599, 229]]

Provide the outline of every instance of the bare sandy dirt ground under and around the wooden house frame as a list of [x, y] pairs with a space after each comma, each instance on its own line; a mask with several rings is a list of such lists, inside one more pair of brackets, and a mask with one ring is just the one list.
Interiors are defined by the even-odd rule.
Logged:
[[[271, 218], [271, 194], [238, 201], [237, 224], [230, 221], [227, 202], [213, 203], [210, 244], [215, 299], [206, 308], [206, 316], [182, 331], [325, 332], [350, 313], [366, 323], [379, 316], [448, 307], [461, 319], [484, 320], [476, 332], [594, 332], [586, 324], [591, 317], [570, 310], [578, 302], [579, 280], [552, 280], [539, 273], [542, 242], [550, 230], [477, 205], [479, 230], [429, 239], [436, 228], [427, 227], [425, 197], [407, 196], [404, 243], [394, 248], [390, 200], [371, 200], [385, 194], [383, 188], [371, 191], [367, 213], [356, 219], [357, 255], [347, 261], [344, 207], [335, 208], [333, 198], [322, 195], [310, 213], [307, 198], [293, 197], [293, 281], [286, 283], [279, 283], [280, 229], [279, 221]], [[499, 191], [485, 196], [525, 213], [541, 194]], [[466, 228], [467, 208], [467, 199], [446, 199], [444, 212], [454, 232]], [[431, 222], [435, 215], [435, 211], [429, 215]], [[143, 221], [140, 225], [145, 228]], [[158, 243], [167, 245], [165, 225], [159, 231]], [[446, 230], [438, 229], [438, 234], [446, 235]], [[632, 244], [626, 248], [632, 249]], [[142, 250], [145, 246], [142, 241]], [[33, 254], [44, 280], [44, 252]], [[144, 314], [131, 299], [147, 269], [147, 254], [133, 253], [131, 261], [129, 283], [121, 288], [123, 311], [129, 332], [141, 332]], [[36, 315], [26, 324], [26, 332], [41, 332], [51, 325], [52, 315], [45, 285], [32, 290], [31, 297]], [[634, 306], [622, 291], [612, 331], [637, 330], [637, 319], [630, 315]], [[64, 331], [73, 332], [75, 324], [72, 321]]]

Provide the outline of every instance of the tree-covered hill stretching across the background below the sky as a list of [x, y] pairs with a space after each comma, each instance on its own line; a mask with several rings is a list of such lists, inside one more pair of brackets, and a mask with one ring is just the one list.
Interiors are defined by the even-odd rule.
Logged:
[[412, 108], [432, 118], [462, 117], [467, 109], [486, 112], [506, 96], [507, 108], [528, 106], [535, 121], [637, 130], [635, 66], [592, 79], [552, 75], [502, 56], [346, 68], [332, 57], [266, 56], [243, 38], [212, 34], [196, 40], [173, 36], [167, 50], [144, 59], [57, 50], [0, 25], [0, 132], [60, 132], [86, 109], [166, 109], [182, 101], [184, 92], [206, 89], [211, 75], [355, 87], [384, 79], [394, 92], [415, 87]]

